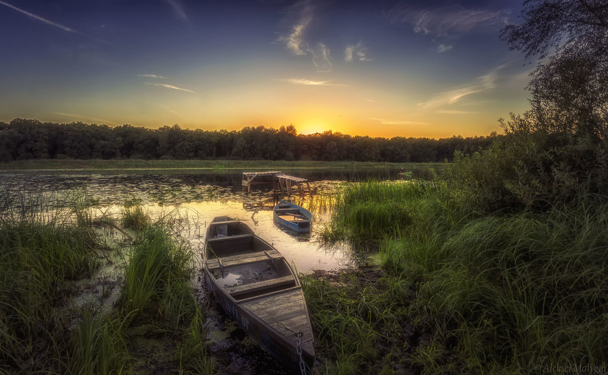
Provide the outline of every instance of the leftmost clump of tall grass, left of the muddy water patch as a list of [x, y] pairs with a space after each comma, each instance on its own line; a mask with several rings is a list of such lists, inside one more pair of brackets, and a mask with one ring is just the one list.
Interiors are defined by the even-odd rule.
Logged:
[[[5, 191], [0, 212], [0, 370], [63, 366], [69, 282], [98, 261], [79, 223], [50, 206], [57, 196]], [[62, 215], [63, 213], [63, 215]], [[40, 353], [44, 353], [41, 355]]]

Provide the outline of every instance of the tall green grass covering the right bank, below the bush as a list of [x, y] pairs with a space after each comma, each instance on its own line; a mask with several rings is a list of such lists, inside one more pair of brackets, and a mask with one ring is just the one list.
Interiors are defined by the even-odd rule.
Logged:
[[[399, 320], [430, 339], [407, 353], [406, 366], [424, 373], [530, 373], [538, 363], [606, 363], [608, 201], [581, 197], [545, 214], [480, 217], [455, 196], [440, 184], [358, 184], [342, 192], [322, 233], [376, 238], [382, 267], [412, 285]], [[314, 290], [307, 294], [337, 301], [308, 305], [321, 345], [346, 353], [365, 345], [359, 337], [344, 343], [325, 333], [342, 314], [335, 312], [348, 309], [329, 307], [344, 303], [340, 289], [324, 297]], [[378, 294], [362, 291], [359, 301]], [[369, 366], [350, 354], [333, 356], [337, 363], [328, 373]]]

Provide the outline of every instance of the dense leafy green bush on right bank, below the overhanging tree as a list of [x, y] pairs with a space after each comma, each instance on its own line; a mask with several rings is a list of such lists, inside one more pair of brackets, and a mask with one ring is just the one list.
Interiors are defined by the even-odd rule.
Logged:
[[608, 138], [534, 130], [529, 114], [504, 124], [507, 137], [486, 150], [455, 155], [443, 169], [449, 192], [473, 211], [545, 211], [608, 191]]

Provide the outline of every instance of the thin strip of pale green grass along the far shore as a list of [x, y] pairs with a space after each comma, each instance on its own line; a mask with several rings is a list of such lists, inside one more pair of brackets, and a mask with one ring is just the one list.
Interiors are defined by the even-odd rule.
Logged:
[[420, 166], [441, 167], [445, 163], [382, 163], [371, 161], [311, 161], [311, 160], [15, 160], [0, 163], [0, 171], [45, 170], [45, 169], [279, 169], [279, 168], [319, 168], [319, 169], [375, 169], [411, 168]]

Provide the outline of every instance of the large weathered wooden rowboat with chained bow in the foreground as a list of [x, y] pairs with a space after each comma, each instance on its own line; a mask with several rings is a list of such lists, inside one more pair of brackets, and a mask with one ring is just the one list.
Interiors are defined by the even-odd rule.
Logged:
[[207, 286], [235, 322], [289, 367], [311, 371], [308, 309], [285, 257], [245, 223], [226, 216], [209, 223], [202, 256]]

